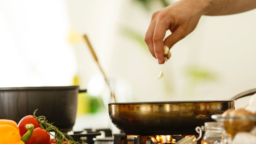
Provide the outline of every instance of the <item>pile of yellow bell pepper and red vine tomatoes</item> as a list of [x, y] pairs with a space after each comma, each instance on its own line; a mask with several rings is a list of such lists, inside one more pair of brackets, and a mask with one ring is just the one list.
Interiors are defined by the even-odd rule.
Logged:
[[[48, 123], [45, 116], [36, 117], [36, 112], [22, 118], [18, 125], [13, 120], [0, 119], [0, 144], [80, 144]], [[55, 139], [50, 139], [50, 135]]]

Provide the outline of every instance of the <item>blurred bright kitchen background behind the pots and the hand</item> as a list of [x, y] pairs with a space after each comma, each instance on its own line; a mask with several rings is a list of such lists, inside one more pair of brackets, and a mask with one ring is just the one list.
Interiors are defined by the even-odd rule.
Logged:
[[118, 102], [227, 100], [255, 88], [256, 10], [202, 16], [171, 59], [157, 64], [144, 35], [152, 13], [174, 2], [0, 0], [0, 87], [80, 85], [87, 93], [79, 94], [74, 128], [109, 125], [109, 90], [87, 34]]

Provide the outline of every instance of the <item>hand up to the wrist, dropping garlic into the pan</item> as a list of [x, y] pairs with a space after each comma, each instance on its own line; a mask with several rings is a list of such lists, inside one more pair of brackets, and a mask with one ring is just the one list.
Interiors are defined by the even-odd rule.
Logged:
[[[198, 0], [181, 0], [153, 13], [144, 40], [159, 64], [164, 63], [164, 57], [168, 58], [163, 53], [164, 46], [171, 49], [196, 28], [204, 14], [202, 5]], [[172, 34], [164, 39], [167, 30]]]

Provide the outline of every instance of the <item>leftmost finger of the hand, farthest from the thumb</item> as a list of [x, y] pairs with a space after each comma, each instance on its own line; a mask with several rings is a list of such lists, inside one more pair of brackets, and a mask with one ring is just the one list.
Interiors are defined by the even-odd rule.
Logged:
[[156, 58], [155, 51], [154, 51], [154, 45], [153, 45], [153, 34], [154, 34], [154, 30], [155, 30], [155, 25], [156, 25], [155, 21], [152, 21], [149, 24], [149, 28], [146, 32], [145, 37], [144, 37], [144, 41], [146, 42], [147, 47], [148, 47], [149, 52], [151, 53], [151, 55]]

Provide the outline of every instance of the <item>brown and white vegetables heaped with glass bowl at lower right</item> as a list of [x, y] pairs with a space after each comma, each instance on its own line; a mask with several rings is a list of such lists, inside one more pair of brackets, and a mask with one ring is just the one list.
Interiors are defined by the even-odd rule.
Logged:
[[232, 144], [255, 144], [256, 142], [256, 94], [245, 108], [228, 109], [222, 119], [227, 142]]

